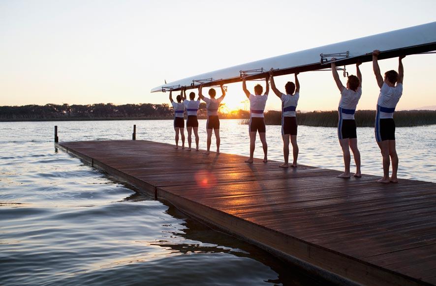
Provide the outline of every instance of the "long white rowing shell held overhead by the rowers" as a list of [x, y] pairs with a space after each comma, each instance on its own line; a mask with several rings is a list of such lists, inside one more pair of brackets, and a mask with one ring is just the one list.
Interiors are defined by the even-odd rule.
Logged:
[[436, 22], [206, 72], [159, 85], [151, 92], [177, 91], [182, 87], [191, 89], [197, 88], [200, 84], [215, 86], [233, 83], [242, 81], [243, 76], [247, 76], [249, 80], [259, 79], [264, 78], [271, 69], [274, 70], [274, 75], [316, 71], [328, 68], [332, 57], [336, 58], [337, 65], [364, 63], [372, 61], [372, 52], [375, 49], [380, 50], [378, 59], [434, 51]]

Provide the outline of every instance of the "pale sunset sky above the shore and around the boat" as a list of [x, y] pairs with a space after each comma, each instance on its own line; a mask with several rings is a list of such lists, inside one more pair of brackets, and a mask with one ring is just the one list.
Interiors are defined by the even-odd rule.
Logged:
[[[434, 22], [435, 11], [434, 0], [0, 0], [0, 106], [169, 103], [168, 93], [150, 93], [164, 80]], [[397, 110], [435, 106], [436, 54], [403, 63]], [[398, 59], [380, 61], [380, 69], [397, 70]], [[357, 109], [374, 109], [371, 63], [361, 71]], [[299, 79], [298, 109], [337, 109], [331, 72]], [[284, 91], [294, 79], [275, 80]], [[270, 95], [266, 109], [279, 110]], [[243, 108], [245, 99], [241, 83], [228, 85], [229, 108]]]

